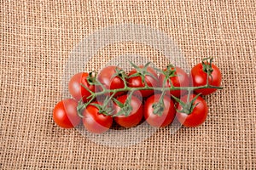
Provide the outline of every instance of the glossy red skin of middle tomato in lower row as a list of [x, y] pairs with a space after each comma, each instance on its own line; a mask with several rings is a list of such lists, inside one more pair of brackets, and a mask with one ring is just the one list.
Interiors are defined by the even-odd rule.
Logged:
[[[118, 98], [119, 102], [122, 104], [125, 103], [128, 95], [122, 95]], [[114, 121], [117, 122], [122, 127], [135, 127], [139, 122], [141, 122], [143, 118], [143, 104], [142, 100], [138, 99], [136, 96], [131, 97], [131, 107], [132, 111], [129, 116], [120, 115], [120, 116], [114, 116]], [[120, 111], [120, 108], [118, 105], [114, 104], [115, 113], [118, 113]]]

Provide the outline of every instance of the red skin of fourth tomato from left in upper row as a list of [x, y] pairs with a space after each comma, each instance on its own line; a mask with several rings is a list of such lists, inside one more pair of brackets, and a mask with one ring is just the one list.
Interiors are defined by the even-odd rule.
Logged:
[[[159, 77], [160, 87], [170, 88], [171, 84], [174, 87], [189, 87], [189, 75], [185, 71], [183, 71], [183, 69], [177, 66], [175, 67], [175, 69], [176, 69], [175, 77], [170, 77], [167, 80], [165, 86], [163, 85], [165, 76], [163, 74], [160, 74], [160, 77]], [[166, 69], [164, 71], [166, 71]], [[170, 90], [170, 94], [174, 95], [177, 98], [187, 93], [188, 93], [187, 90]]]

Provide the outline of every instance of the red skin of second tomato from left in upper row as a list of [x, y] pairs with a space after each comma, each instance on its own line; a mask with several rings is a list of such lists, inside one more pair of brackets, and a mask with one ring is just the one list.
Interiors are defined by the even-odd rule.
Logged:
[[[122, 78], [117, 76], [113, 77], [113, 75], [116, 74], [116, 68], [118, 67], [113, 65], [107, 66], [102, 69], [97, 77], [98, 81], [102, 82], [104, 87], [107, 89], [125, 88], [125, 82], [122, 80]], [[118, 92], [114, 96], [119, 96], [120, 94], [123, 94], [123, 92]]]

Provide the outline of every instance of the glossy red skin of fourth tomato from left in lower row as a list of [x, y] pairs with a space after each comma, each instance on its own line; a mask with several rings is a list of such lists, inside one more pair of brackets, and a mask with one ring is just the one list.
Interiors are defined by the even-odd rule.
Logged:
[[153, 105], [160, 101], [161, 94], [155, 94], [150, 96], [144, 105], [144, 117], [145, 120], [148, 122], [149, 125], [152, 127], [166, 127], [170, 123], [172, 123], [174, 116], [175, 116], [175, 107], [172, 99], [170, 96], [164, 96], [164, 105], [165, 110], [163, 111], [162, 115], [155, 115]]

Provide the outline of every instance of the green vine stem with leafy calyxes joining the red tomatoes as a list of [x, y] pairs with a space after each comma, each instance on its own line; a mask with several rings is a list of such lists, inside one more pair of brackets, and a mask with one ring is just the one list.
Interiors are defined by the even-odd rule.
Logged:
[[[209, 60], [209, 61], [208, 61]], [[112, 94], [110, 97], [106, 97], [107, 99], [104, 100], [103, 102], [103, 107], [102, 105], [96, 105], [96, 107], [105, 115], [108, 116], [114, 116], [112, 113], [112, 111], [110, 110], [110, 108], [107, 107], [108, 102], [113, 99], [114, 102], [118, 102], [116, 99], [113, 98], [113, 96], [119, 92], [131, 92], [129, 94], [129, 97], [127, 99], [127, 102], [125, 102], [125, 105], [120, 105], [118, 103], [118, 105], [120, 105], [121, 107], [126, 107], [126, 111], [123, 111], [123, 114], [125, 114], [125, 112], [129, 112], [131, 111], [131, 108], [129, 109], [129, 102], [131, 99], [131, 95], [133, 94], [134, 91], [137, 90], [154, 90], [154, 91], [160, 91], [160, 93], [162, 94], [161, 96], [163, 96], [166, 91], [172, 91], [172, 90], [186, 90], [188, 91], [188, 99], [189, 99], [189, 95], [191, 94], [192, 91], [195, 91], [197, 89], [204, 89], [204, 88], [215, 88], [215, 89], [223, 89], [222, 87], [219, 86], [212, 86], [209, 84], [208, 78], [211, 77], [211, 73], [212, 73], [212, 58], [206, 58], [206, 59], [202, 59], [202, 65], [203, 65], [203, 71], [207, 72], [207, 84], [202, 85], [202, 86], [198, 86], [198, 87], [175, 87], [171, 84], [170, 88], [166, 88], [166, 87], [150, 87], [148, 86], [148, 83], [145, 82], [145, 76], [148, 75], [150, 77], [153, 77], [154, 79], [157, 79], [156, 77], [154, 77], [153, 74], [151, 74], [150, 72], [147, 71], [148, 66], [151, 64], [150, 62], [148, 62], [146, 65], [143, 66], [143, 68], [140, 68], [139, 66], [135, 65], [134, 63], [132, 63], [130, 61], [131, 66], [137, 70], [137, 73], [134, 75], [131, 75], [130, 77], [142, 77], [143, 82], [145, 83], [144, 87], [140, 87], [140, 88], [131, 88], [127, 85], [127, 78], [128, 77], [125, 74], [125, 71], [122, 69], [119, 69], [118, 67], [116, 67], [116, 73], [113, 74], [112, 77], [120, 77], [123, 82], [125, 82], [125, 87], [124, 88], [118, 88], [118, 89], [108, 89], [106, 88], [102, 82], [98, 81], [96, 79], [96, 71], [92, 71], [89, 73], [90, 77], [87, 77], [88, 82], [90, 83], [90, 85], [95, 85], [95, 86], [100, 86], [102, 88], [101, 92], [93, 92], [91, 91], [89, 88], [86, 88], [82, 83], [81, 86], [83, 86], [85, 89], [87, 89], [90, 92], [90, 96], [87, 97], [87, 99], [90, 99], [88, 102], [84, 103], [83, 99], [79, 100], [79, 105], [77, 108], [77, 111], [79, 113], [80, 117], [84, 117], [81, 114], [81, 111], [84, 110], [84, 108], [87, 105], [90, 105], [90, 103], [96, 99], [97, 96], [101, 96], [102, 94]], [[165, 80], [164, 82], [166, 82], [168, 80], [168, 78], [170, 77], [169, 75], [172, 75], [172, 77], [175, 77], [174, 72], [175, 70], [170, 70], [170, 68], [173, 68], [173, 65], [168, 65], [167, 66], [167, 70], [166, 71], [161, 71], [160, 69], [154, 68], [155, 71], [159, 71], [160, 73], [165, 75]], [[164, 83], [165, 84], [165, 83]], [[198, 94], [199, 96], [200, 94]], [[180, 103], [181, 105], [183, 105], [186, 109], [184, 109], [184, 113], [191, 113], [191, 111], [193, 110], [193, 108], [195, 107], [194, 102], [195, 99], [191, 102], [187, 102], [187, 103], [183, 103], [180, 99], [178, 99], [177, 97], [172, 95], [172, 98], [175, 99], [178, 103]], [[193, 106], [194, 105], [194, 106]], [[105, 111], [104, 111], [105, 110]], [[125, 110], [125, 109], [124, 109]], [[155, 103], [154, 104], [154, 112], [155, 114], [161, 114], [161, 112], [164, 110], [163, 105], [162, 105], [162, 101], [160, 100], [160, 102]], [[161, 112], [159, 112], [161, 111]], [[120, 114], [120, 113], [119, 113]]]

